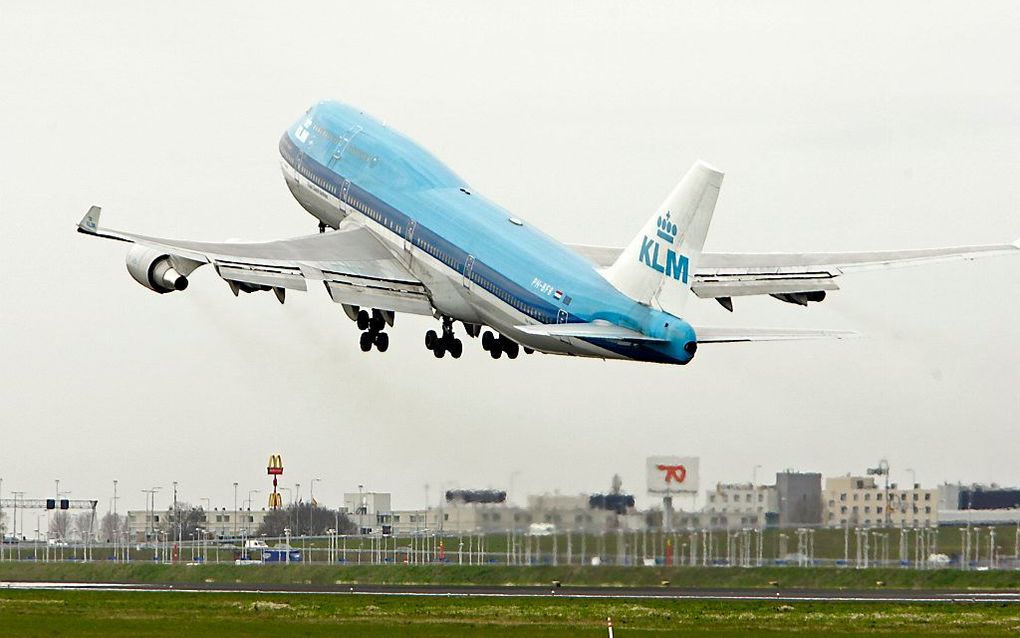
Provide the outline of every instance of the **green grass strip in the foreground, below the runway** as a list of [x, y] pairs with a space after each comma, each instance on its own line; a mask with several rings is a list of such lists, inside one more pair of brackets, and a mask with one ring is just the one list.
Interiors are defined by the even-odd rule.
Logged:
[[1017, 635], [1020, 607], [0, 590], [9, 636]]

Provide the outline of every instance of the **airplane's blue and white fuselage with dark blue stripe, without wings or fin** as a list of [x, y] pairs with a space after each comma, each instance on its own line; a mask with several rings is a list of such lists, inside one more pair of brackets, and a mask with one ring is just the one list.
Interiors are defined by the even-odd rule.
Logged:
[[[315, 216], [337, 227], [360, 214], [394, 246], [427, 255], [431, 267], [469, 294], [499, 304], [500, 316], [484, 323], [523, 345], [546, 351], [666, 363], [686, 363], [683, 345], [695, 341], [691, 326], [672, 314], [643, 305], [614, 288], [596, 266], [473, 191], [445, 164], [400, 133], [358, 110], [321, 102], [308, 110], [279, 141], [290, 170], [320, 189], [323, 202], [310, 206]], [[410, 253], [409, 253], [410, 254]], [[427, 282], [426, 282], [427, 284]], [[454, 318], [462, 305], [437, 309]], [[514, 326], [608, 322], [663, 338], [662, 342], [605, 339], [563, 341], [549, 348]]]

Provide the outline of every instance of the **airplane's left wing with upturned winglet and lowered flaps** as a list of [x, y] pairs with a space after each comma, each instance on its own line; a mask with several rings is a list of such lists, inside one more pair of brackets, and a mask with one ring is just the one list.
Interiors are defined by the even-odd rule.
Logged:
[[212, 243], [101, 228], [100, 212], [98, 206], [90, 208], [79, 232], [151, 248], [183, 276], [212, 264], [235, 295], [239, 290], [272, 290], [283, 302], [284, 291], [304, 291], [309, 281], [321, 281], [333, 300], [346, 306], [432, 314], [424, 285], [362, 226], [279, 241]]

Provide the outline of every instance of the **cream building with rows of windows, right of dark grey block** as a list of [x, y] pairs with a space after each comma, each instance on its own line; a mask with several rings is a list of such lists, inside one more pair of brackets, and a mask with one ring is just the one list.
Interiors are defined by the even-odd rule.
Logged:
[[886, 489], [874, 477], [825, 479], [822, 498], [828, 527], [930, 527], [938, 524], [937, 490], [914, 484]]

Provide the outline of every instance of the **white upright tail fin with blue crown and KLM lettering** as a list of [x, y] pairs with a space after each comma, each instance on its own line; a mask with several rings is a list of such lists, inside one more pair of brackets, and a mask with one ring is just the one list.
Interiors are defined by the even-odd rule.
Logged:
[[722, 173], [704, 161], [687, 170], [638, 237], [603, 275], [628, 297], [678, 314], [691, 295]]

